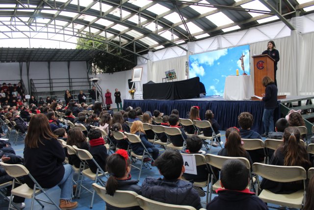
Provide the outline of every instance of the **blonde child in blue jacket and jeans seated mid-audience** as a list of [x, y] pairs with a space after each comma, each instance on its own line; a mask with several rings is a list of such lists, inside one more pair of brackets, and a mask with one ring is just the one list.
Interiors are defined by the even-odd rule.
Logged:
[[[159, 150], [158, 150], [158, 148], [156, 148], [152, 143], [150, 143], [147, 140], [147, 136], [145, 134], [142, 121], [136, 120], [133, 122], [133, 124], [131, 126], [131, 134], [136, 134], [139, 136], [143, 145], [146, 147], [148, 152], [152, 154], [153, 159], [156, 160], [158, 155], [159, 155]], [[135, 154], [143, 155], [144, 147], [142, 146], [141, 143], [129, 143], [129, 144], [130, 144], [132, 151]], [[154, 162], [154, 160], [153, 160], [153, 162]], [[147, 161], [150, 161], [150, 160], [147, 159]], [[152, 162], [152, 164], [153, 164], [153, 162]]]

